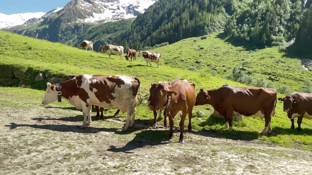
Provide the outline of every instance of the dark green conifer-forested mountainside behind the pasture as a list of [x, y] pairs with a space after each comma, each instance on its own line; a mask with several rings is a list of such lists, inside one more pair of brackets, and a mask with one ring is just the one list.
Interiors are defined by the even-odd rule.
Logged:
[[[232, 38], [230, 42], [257, 49], [285, 48], [296, 38], [296, 47], [290, 50], [309, 55], [311, 3], [312, 0], [158, 0], [136, 19], [103, 24], [68, 24], [55, 19], [50, 24], [46, 20], [40, 25], [9, 30], [75, 47], [82, 40], [92, 40], [96, 50], [100, 44], [122, 45], [125, 51], [224, 31], [224, 36]], [[63, 18], [61, 21], [66, 21]]]

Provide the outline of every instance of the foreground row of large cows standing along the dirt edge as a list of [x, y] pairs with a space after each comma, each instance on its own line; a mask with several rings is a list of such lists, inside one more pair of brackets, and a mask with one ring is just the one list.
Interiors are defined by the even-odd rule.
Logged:
[[[122, 131], [132, 127], [135, 122], [137, 93], [141, 99], [141, 82], [137, 77], [114, 75], [78, 75], [71, 76], [67, 81], [50, 84], [47, 83], [46, 93], [42, 105], [53, 103], [56, 100], [67, 100], [77, 109], [82, 109], [83, 123], [85, 128], [91, 121], [92, 105], [99, 108], [117, 108], [115, 115], [121, 110], [127, 113], [127, 122]], [[200, 89], [196, 95], [195, 84], [187, 80], [174, 80], [170, 82], [152, 83], [149, 89], [147, 109], [153, 111], [154, 126], [157, 122], [157, 110], [159, 117], [164, 115], [164, 126], [167, 127], [166, 117], [169, 119], [170, 135], [173, 139], [174, 120], [180, 115], [180, 138], [183, 143], [184, 121], [188, 115], [188, 130], [192, 129], [192, 111], [195, 105], [212, 105], [226, 121], [225, 128], [232, 131], [234, 112], [244, 116], [256, 116], [265, 119], [265, 126], [260, 135], [271, 132], [271, 118], [275, 114], [277, 100], [284, 103], [284, 111], [291, 119], [294, 128], [294, 118], [298, 117], [298, 128], [301, 130], [303, 118], [312, 119], [312, 94], [294, 92], [284, 98], [277, 99], [277, 93], [273, 88], [250, 88], [223, 86], [213, 90]], [[97, 116], [99, 113], [97, 114]], [[103, 114], [101, 113], [101, 117]]]

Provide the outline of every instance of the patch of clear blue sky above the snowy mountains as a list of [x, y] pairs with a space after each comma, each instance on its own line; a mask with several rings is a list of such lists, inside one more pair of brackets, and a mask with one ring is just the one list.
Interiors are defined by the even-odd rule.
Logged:
[[11, 15], [26, 12], [49, 12], [64, 7], [71, 0], [0, 0], [0, 13]]

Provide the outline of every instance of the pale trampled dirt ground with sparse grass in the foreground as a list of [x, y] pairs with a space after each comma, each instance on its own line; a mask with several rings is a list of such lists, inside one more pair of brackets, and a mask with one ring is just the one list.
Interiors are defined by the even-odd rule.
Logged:
[[180, 144], [175, 128], [176, 141], [168, 142], [168, 128], [152, 128], [144, 121], [121, 132], [124, 116], [80, 129], [80, 111], [42, 106], [2, 107], [0, 118], [1, 175], [312, 174], [312, 152], [259, 140], [186, 131]]

